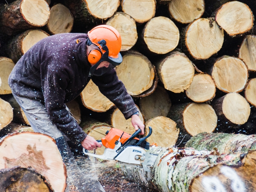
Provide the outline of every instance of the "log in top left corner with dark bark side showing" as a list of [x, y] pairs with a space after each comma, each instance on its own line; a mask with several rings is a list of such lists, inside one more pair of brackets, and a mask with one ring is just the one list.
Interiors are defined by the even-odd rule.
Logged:
[[50, 8], [45, 0], [17, 0], [2, 5], [0, 10], [1, 32], [8, 35], [46, 25]]

